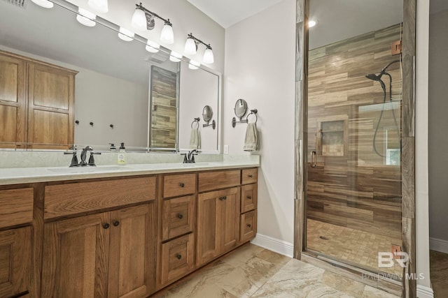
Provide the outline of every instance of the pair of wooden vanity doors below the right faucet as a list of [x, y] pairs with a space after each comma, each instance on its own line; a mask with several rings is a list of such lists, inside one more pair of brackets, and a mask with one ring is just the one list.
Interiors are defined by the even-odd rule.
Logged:
[[196, 265], [235, 248], [239, 239], [239, 187], [202, 193], [197, 198]]

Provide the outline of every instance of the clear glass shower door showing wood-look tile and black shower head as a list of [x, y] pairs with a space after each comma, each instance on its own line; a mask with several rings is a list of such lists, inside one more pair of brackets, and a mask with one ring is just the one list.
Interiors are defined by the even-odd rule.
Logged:
[[310, 0], [308, 253], [401, 278], [402, 1]]

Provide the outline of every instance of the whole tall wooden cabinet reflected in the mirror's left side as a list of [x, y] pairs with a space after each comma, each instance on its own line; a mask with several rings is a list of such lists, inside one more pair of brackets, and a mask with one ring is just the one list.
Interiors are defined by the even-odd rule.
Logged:
[[[0, 142], [50, 149], [73, 144], [76, 73], [0, 51]], [[1, 144], [10, 146], [22, 145]]]

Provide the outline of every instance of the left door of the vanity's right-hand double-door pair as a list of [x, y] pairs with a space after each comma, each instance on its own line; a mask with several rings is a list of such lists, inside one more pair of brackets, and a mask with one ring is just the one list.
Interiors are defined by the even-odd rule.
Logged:
[[197, 242], [196, 265], [200, 266], [220, 253], [221, 244], [221, 201], [222, 191], [201, 193], [197, 196]]

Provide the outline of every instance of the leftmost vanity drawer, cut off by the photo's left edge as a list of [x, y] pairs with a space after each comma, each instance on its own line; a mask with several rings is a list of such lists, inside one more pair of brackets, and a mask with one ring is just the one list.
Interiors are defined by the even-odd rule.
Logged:
[[33, 198], [33, 188], [0, 191], [0, 228], [31, 223]]

